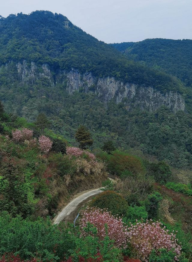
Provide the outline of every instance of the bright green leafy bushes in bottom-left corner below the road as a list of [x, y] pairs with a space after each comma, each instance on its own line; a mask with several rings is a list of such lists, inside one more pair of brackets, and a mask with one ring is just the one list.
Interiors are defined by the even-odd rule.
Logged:
[[[49, 219], [30, 221], [20, 216], [0, 216], [0, 253], [13, 252], [23, 259], [58, 260], [74, 246], [67, 231], [59, 231]], [[56, 252], [54, 252], [56, 250]]]

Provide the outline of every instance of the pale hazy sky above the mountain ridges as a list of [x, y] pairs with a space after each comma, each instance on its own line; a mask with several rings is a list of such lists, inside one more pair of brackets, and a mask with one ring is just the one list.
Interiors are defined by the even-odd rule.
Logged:
[[192, 39], [192, 0], [0, 0], [0, 14], [61, 13], [106, 43]]

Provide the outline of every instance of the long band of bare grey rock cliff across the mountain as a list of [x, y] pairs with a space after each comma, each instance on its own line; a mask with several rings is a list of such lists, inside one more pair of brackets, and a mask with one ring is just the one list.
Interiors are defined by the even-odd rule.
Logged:
[[152, 86], [123, 83], [114, 77], [98, 78], [91, 72], [81, 74], [73, 68], [70, 72], [57, 70], [52, 74], [48, 64], [39, 67], [34, 62], [27, 64], [25, 60], [17, 62], [16, 68], [19, 81], [33, 84], [36, 79], [46, 78], [53, 87], [57, 83], [67, 83], [67, 91], [71, 95], [79, 90], [86, 93], [94, 92], [104, 102], [114, 99], [116, 103], [125, 103], [128, 110], [139, 107], [142, 110], [155, 111], [162, 105], [169, 107], [173, 112], [185, 109], [184, 99], [175, 91], [161, 93]]

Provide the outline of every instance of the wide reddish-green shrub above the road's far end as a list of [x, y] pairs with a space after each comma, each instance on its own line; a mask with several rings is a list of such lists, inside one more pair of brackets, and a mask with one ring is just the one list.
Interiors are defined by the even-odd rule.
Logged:
[[128, 170], [132, 174], [143, 174], [145, 168], [141, 159], [116, 150], [110, 156], [108, 168], [112, 173], [121, 175], [122, 171]]

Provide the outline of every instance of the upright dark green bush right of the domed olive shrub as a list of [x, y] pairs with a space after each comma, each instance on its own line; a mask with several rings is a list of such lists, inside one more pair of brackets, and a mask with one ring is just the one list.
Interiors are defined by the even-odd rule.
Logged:
[[145, 201], [145, 206], [149, 219], [153, 219], [157, 216], [159, 203], [162, 199], [163, 198], [159, 192], [154, 192], [153, 194], [148, 195]]

